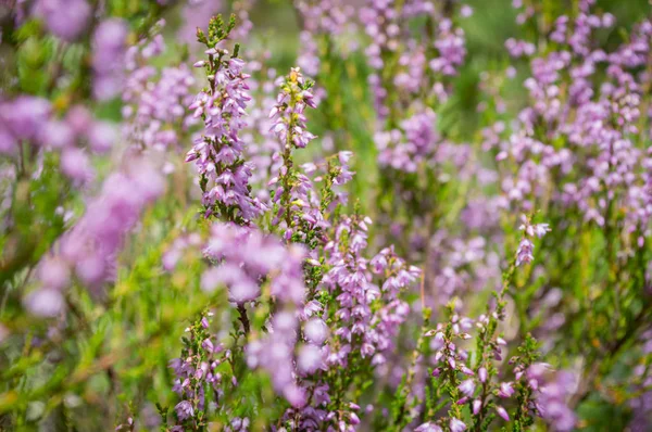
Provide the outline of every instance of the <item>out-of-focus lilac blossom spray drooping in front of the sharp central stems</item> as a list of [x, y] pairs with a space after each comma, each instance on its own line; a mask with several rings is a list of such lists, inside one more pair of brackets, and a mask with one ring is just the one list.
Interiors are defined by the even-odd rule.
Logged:
[[[280, 309], [271, 318], [268, 334], [247, 346], [247, 363], [250, 368], [268, 370], [276, 391], [291, 405], [303, 406], [304, 392], [296, 382], [292, 354], [299, 325], [292, 310], [301, 308], [305, 300], [303, 250], [298, 245], [286, 246], [249, 227], [214, 223], [204, 253], [215, 265], [202, 276], [202, 289], [226, 287], [229, 300], [239, 306], [241, 314], [246, 303], [261, 296], [259, 281], [266, 280], [264, 289], [277, 300]], [[246, 327], [244, 331], [249, 329]]]

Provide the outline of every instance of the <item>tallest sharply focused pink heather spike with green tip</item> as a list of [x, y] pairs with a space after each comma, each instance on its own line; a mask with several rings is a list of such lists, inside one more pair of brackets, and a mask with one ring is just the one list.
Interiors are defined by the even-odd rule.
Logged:
[[238, 58], [239, 46], [233, 53], [222, 48], [234, 26], [234, 16], [228, 24], [216, 16], [209, 24], [208, 35], [197, 30], [198, 40], [206, 46], [208, 59], [198, 61], [195, 67], [205, 69], [209, 87], [189, 106], [195, 117], [204, 120], [204, 130], [195, 140], [186, 162], [195, 161], [197, 166], [204, 217], [250, 225], [265, 206], [251, 196], [252, 166], [242, 157], [247, 144], [239, 136], [246, 126], [244, 109], [251, 100], [249, 75], [242, 72], [244, 61]]

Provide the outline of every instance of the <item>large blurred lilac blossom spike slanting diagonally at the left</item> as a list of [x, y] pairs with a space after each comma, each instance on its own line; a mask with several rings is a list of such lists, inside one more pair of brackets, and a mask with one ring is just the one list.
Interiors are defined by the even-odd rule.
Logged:
[[126, 236], [164, 188], [158, 169], [142, 160], [111, 174], [88, 201], [85, 214], [39, 264], [40, 287], [25, 300], [29, 310], [41, 316], [61, 313], [73, 275], [96, 295], [102, 294], [102, 285], [115, 277]]

